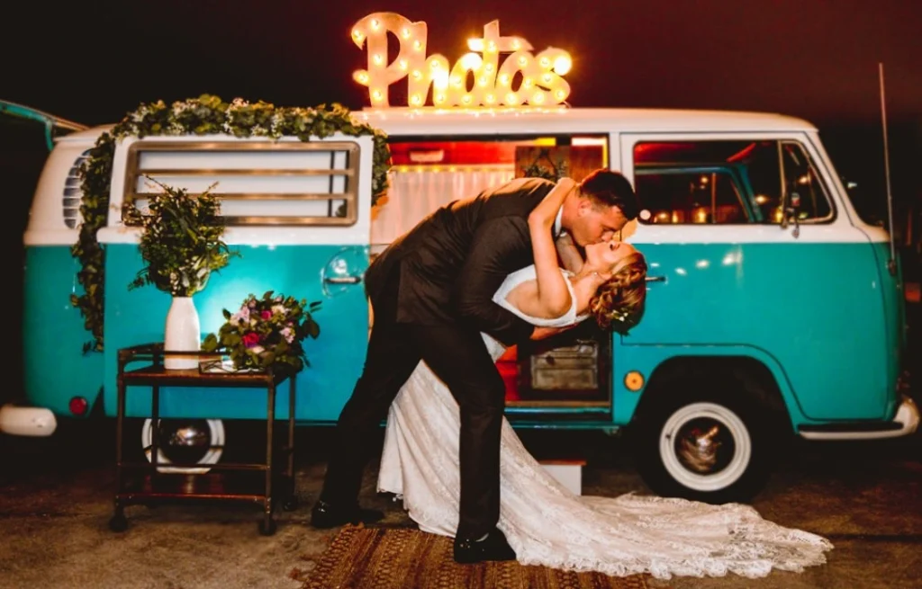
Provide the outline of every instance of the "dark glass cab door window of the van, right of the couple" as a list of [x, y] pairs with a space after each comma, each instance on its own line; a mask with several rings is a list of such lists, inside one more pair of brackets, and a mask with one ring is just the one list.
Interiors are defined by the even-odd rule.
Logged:
[[801, 222], [833, 216], [829, 192], [796, 141], [644, 142], [634, 188], [646, 224], [775, 224], [782, 202]]

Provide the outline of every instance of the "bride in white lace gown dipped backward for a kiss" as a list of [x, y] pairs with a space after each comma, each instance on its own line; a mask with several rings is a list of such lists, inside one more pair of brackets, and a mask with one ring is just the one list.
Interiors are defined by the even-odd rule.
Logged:
[[[561, 270], [550, 225], [572, 186], [562, 180], [529, 216], [535, 264], [510, 274], [493, 302], [549, 333], [589, 317], [602, 329], [624, 333], [644, 313], [644, 257], [627, 243], [603, 242], [585, 248], [581, 267]], [[499, 358], [502, 344], [483, 338]], [[420, 363], [388, 413], [378, 491], [402, 498], [421, 530], [447, 537], [458, 525], [459, 428], [455, 398]], [[664, 579], [727, 572], [762, 577], [773, 568], [800, 572], [822, 564], [833, 548], [825, 538], [775, 525], [739, 503], [576, 495], [529, 455], [505, 419], [500, 452], [497, 527], [522, 564]]]

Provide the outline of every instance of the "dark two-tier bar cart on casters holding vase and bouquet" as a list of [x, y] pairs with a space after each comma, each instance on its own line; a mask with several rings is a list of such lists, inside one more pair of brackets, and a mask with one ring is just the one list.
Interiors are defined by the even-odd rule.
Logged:
[[[197, 356], [200, 367], [191, 369], [168, 370], [163, 365], [165, 356]], [[295, 374], [273, 371], [265, 372], [212, 372], [201, 366], [220, 363], [220, 352], [171, 352], [163, 348], [162, 343], [148, 343], [124, 348], [118, 351], [118, 416], [116, 422], [116, 491], [115, 513], [109, 521], [113, 532], [127, 529], [128, 522], [124, 508], [128, 505], [155, 505], [161, 502], [184, 501], [237, 501], [262, 504], [263, 518], [259, 521], [259, 533], [271, 536], [276, 532], [273, 510], [281, 500], [286, 510], [297, 508], [297, 495], [294, 484], [294, 404]], [[128, 369], [129, 364], [142, 364]], [[276, 390], [279, 385], [289, 381], [289, 415], [288, 444], [275, 448], [274, 424], [276, 421]], [[128, 387], [150, 387], [151, 408], [150, 421], [153, 428], [151, 444], [144, 448], [149, 450], [150, 460], [139, 462], [124, 461], [124, 418], [125, 395]], [[265, 478], [262, 484], [236, 485], [223, 484], [220, 475], [191, 475], [197, 479], [190, 483], [190, 475], [165, 474], [160, 472], [163, 465], [159, 463], [160, 424], [160, 388], [161, 387], [243, 387], [266, 389], [266, 461], [260, 464], [219, 463], [208, 465], [214, 471], [249, 471], [251, 474], [262, 471]], [[282, 455], [286, 460], [283, 472], [278, 472], [275, 460]], [[171, 462], [171, 468], [194, 468], [201, 465]], [[135, 475], [135, 476], [131, 476]], [[281, 492], [278, 492], [281, 491]]]

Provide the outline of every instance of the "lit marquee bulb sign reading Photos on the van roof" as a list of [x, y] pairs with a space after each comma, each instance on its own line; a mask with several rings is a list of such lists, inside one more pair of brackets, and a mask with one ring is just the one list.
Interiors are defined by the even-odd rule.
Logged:
[[[391, 63], [388, 32], [400, 41]], [[467, 40], [470, 52], [452, 66], [439, 53], [426, 55], [426, 37], [425, 22], [411, 22], [393, 12], [374, 13], [352, 27], [352, 40], [359, 49], [368, 49], [368, 69], [352, 77], [368, 87], [372, 107], [389, 106], [387, 87], [405, 77], [410, 107], [426, 106], [430, 88], [436, 107], [546, 107], [570, 96], [570, 85], [562, 77], [573, 65], [570, 53], [549, 47], [534, 55], [527, 40], [501, 37], [498, 20], [484, 26], [483, 38]], [[506, 55], [501, 59], [501, 54]]]

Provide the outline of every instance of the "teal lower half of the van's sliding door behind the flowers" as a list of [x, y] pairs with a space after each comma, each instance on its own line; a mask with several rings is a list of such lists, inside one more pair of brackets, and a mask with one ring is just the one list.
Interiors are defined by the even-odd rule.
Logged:
[[[236, 248], [231, 246], [231, 248]], [[349, 249], [349, 248], [345, 248]], [[364, 248], [361, 248], [364, 250]], [[368, 339], [368, 305], [361, 283], [322, 291], [321, 272], [344, 247], [334, 245], [240, 247], [242, 257], [208, 279], [193, 300], [202, 338], [217, 333], [224, 323], [222, 309], [236, 311], [246, 295], [267, 290], [321, 301], [314, 315], [320, 326], [316, 340], [304, 348], [310, 365], [297, 375], [295, 417], [299, 421], [335, 422], [361, 374]], [[367, 260], [367, 253], [364, 254]], [[366, 261], [367, 264], [367, 261]], [[128, 290], [141, 268], [140, 254], [131, 244], [112, 244], [106, 255], [105, 407], [115, 414], [117, 352], [141, 343], [163, 340], [171, 297], [153, 286]], [[140, 366], [138, 366], [140, 367]], [[130, 368], [130, 366], [129, 366]], [[277, 416], [288, 417], [287, 384], [279, 388]], [[266, 393], [246, 388], [169, 387], [161, 393], [162, 417], [265, 419]], [[133, 387], [128, 392], [128, 415], [149, 415], [150, 392]]]

